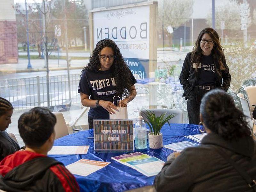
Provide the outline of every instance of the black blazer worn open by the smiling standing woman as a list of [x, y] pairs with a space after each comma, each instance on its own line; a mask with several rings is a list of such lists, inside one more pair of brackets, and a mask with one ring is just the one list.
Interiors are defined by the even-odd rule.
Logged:
[[[229, 74], [229, 69], [226, 64], [226, 59], [224, 57], [224, 59], [222, 60], [222, 63], [226, 68], [225, 70], [220, 70], [220, 64], [216, 59], [213, 59], [213, 61], [216, 69], [215, 70], [216, 71], [215, 76], [217, 80], [216, 87], [219, 87], [227, 92], [230, 85], [230, 81], [231, 81], [231, 75]], [[191, 52], [189, 52], [184, 60], [184, 63], [180, 72], [180, 84], [182, 85], [182, 88], [184, 90], [182, 97], [185, 97], [185, 100], [187, 100], [191, 90], [198, 84], [199, 77], [200, 77], [200, 68], [197, 68], [197, 72], [193, 68], [193, 65], [191, 64]]]

